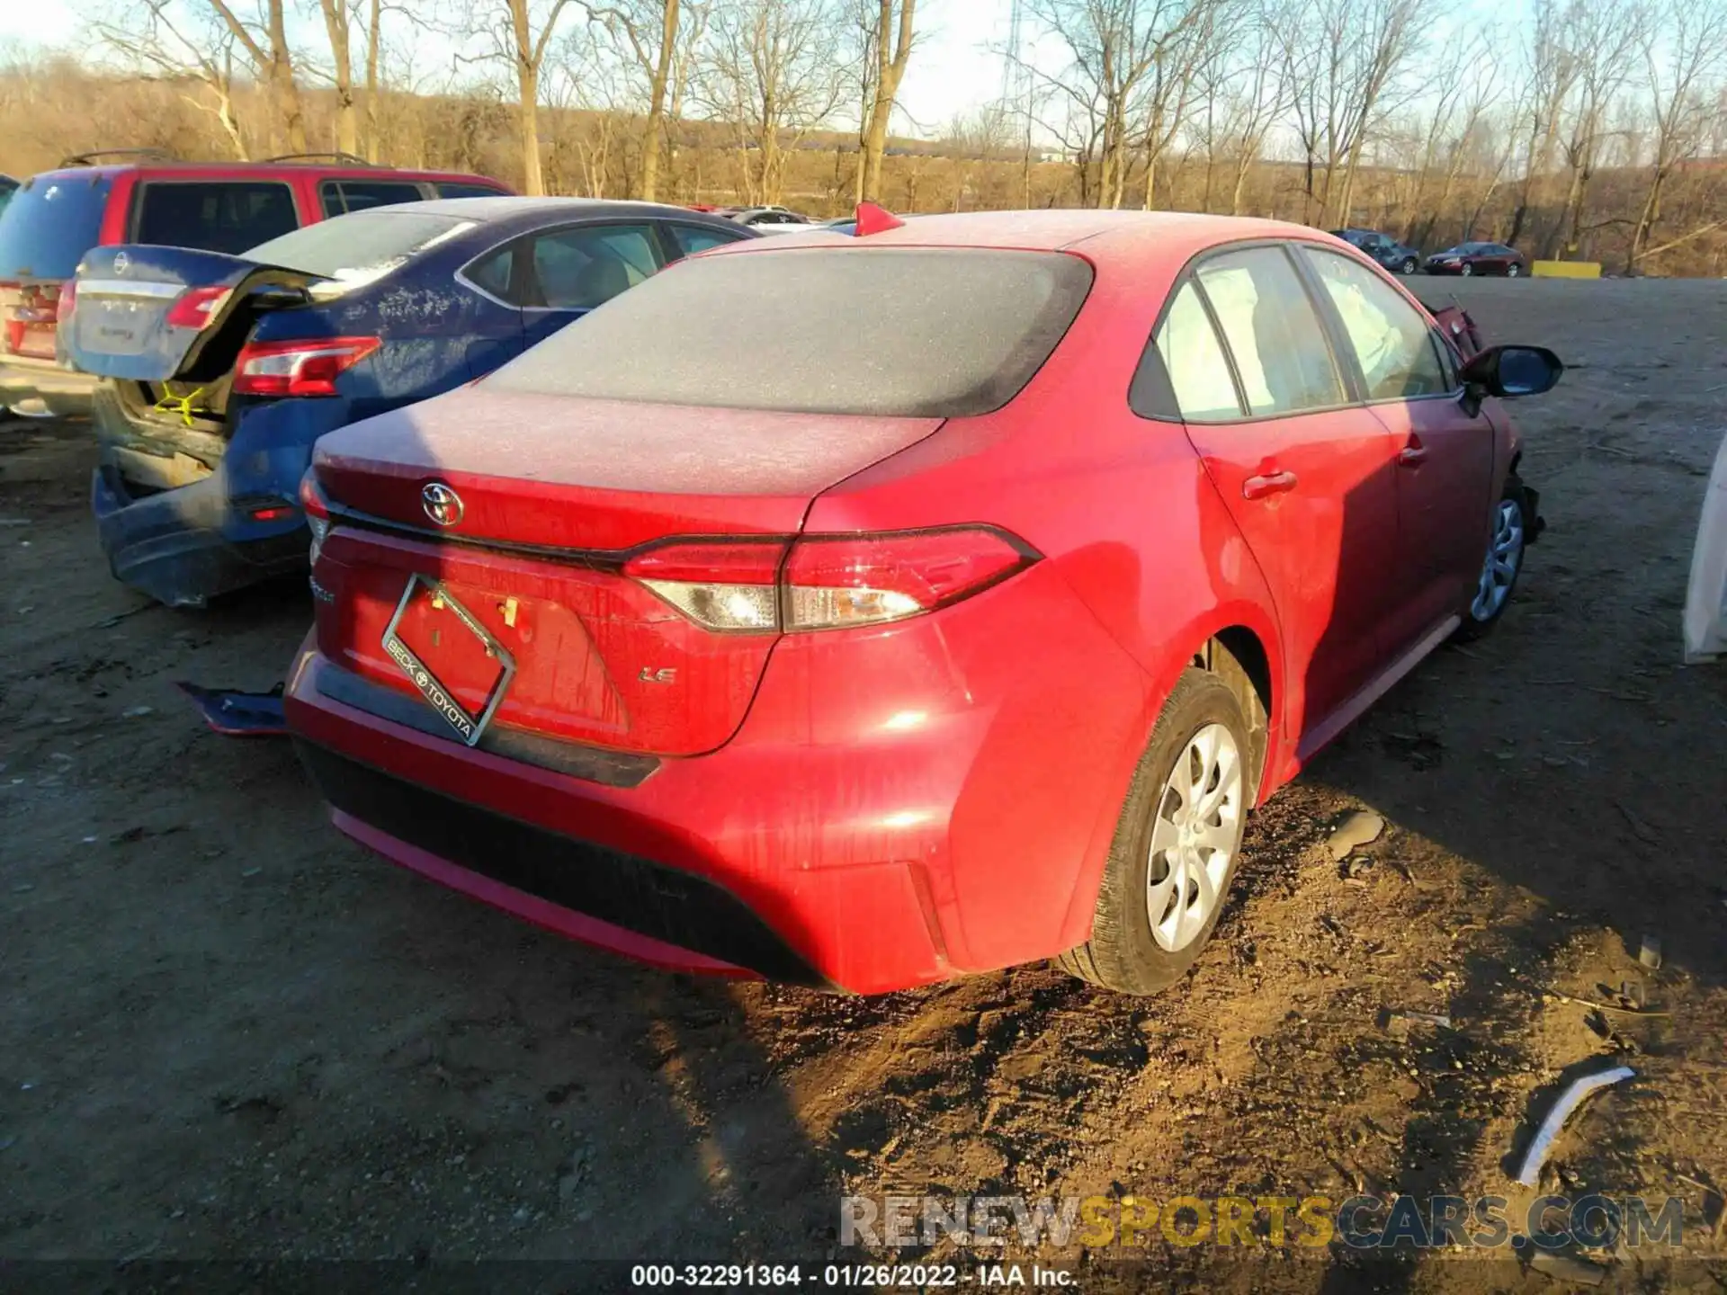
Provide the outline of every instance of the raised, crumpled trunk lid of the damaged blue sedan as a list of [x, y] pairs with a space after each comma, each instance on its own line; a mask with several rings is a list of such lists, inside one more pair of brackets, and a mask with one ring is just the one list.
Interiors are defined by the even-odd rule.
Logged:
[[60, 357], [104, 378], [214, 382], [257, 316], [304, 304], [314, 278], [188, 247], [97, 247], [60, 311]]

